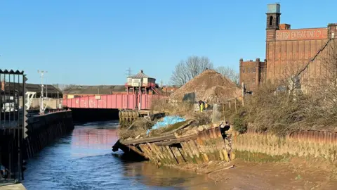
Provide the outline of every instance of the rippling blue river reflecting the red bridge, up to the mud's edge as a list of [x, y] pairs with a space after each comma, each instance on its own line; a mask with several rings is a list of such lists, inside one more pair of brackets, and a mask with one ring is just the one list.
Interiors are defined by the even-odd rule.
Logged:
[[204, 175], [129, 161], [117, 141], [117, 121], [76, 125], [71, 134], [27, 163], [23, 184], [33, 189], [204, 189]]

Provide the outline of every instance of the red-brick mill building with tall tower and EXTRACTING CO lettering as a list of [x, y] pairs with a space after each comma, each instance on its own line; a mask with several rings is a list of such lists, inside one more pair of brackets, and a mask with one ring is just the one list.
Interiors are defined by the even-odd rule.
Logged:
[[[265, 62], [257, 64], [257, 61], [240, 59], [240, 84], [245, 82], [246, 87], [251, 85], [253, 89], [260, 82], [275, 82], [290, 76], [298, 76], [302, 84], [326, 72], [322, 60], [326, 57], [326, 47], [333, 42], [337, 23], [293, 30], [289, 24], [280, 24], [280, 10], [279, 4], [267, 5]], [[256, 72], [260, 73], [247, 73], [247, 68], [253, 68], [254, 63]], [[258, 83], [253, 84], [254, 79]]]

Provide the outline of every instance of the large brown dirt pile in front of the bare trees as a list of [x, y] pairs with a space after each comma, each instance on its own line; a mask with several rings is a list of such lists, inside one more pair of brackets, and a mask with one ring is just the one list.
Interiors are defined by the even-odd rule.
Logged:
[[185, 94], [192, 92], [195, 93], [197, 100], [214, 102], [239, 97], [241, 89], [219, 72], [205, 70], [183, 85], [183, 87], [177, 89], [171, 94], [170, 98], [174, 101], [182, 101]]

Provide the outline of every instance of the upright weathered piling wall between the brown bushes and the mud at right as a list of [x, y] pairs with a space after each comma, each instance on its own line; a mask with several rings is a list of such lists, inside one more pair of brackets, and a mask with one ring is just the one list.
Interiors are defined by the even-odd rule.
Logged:
[[282, 160], [291, 156], [325, 158], [337, 162], [337, 132], [298, 131], [280, 138], [272, 134], [235, 134], [236, 158], [253, 161]]

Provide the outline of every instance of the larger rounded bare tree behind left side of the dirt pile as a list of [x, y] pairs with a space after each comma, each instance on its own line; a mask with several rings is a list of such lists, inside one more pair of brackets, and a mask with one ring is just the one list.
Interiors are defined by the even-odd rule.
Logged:
[[171, 83], [177, 86], [186, 84], [199, 75], [206, 68], [213, 69], [213, 63], [207, 57], [190, 56], [185, 61], [180, 61], [171, 76]]

